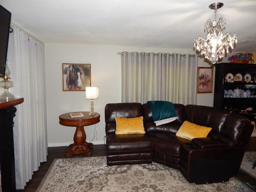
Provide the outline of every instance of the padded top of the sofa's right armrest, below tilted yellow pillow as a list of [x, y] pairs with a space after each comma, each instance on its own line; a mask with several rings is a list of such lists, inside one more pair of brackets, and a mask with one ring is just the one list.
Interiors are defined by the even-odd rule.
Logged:
[[216, 138], [205, 137], [205, 138], [194, 138], [192, 139], [192, 144], [200, 149], [208, 148], [221, 148], [227, 145]]

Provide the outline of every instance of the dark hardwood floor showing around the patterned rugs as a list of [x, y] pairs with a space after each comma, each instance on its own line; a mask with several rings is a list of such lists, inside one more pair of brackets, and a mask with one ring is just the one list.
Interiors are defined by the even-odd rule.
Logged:
[[[65, 147], [49, 147], [47, 162], [41, 163], [41, 166], [38, 171], [34, 172], [32, 179], [27, 182], [24, 190], [16, 190], [16, 192], [35, 192], [38, 186], [40, 185], [42, 179], [50, 168], [53, 160], [55, 158], [65, 158], [65, 153], [68, 151], [68, 146]], [[248, 142], [246, 151], [256, 151], [256, 137], [251, 137]], [[74, 155], [73, 157], [80, 157], [84, 155]], [[106, 147], [104, 145], [94, 145], [92, 156], [106, 156]], [[71, 157], [72, 158], [72, 157]], [[251, 185], [256, 186], [256, 179], [246, 174], [242, 170], [238, 171], [236, 176], [238, 180], [242, 182], [248, 182]]]

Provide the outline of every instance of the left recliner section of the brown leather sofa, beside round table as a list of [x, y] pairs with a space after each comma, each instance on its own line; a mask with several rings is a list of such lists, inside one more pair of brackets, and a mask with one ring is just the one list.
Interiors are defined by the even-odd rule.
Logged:
[[108, 165], [152, 163], [152, 142], [146, 134], [115, 134], [116, 117], [143, 116], [140, 103], [116, 103], [105, 106], [106, 151]]

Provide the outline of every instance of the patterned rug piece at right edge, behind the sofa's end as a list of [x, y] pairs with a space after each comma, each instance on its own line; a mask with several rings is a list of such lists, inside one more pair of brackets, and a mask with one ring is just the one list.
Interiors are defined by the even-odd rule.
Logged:
[[256, 178], [256, 168], [252, 169], [252, 166], [256, 160], [256, 152], [248, 151], [244, 153], [244, 158], [242, 160], [240, 169], [249, 174], [250, 176]]

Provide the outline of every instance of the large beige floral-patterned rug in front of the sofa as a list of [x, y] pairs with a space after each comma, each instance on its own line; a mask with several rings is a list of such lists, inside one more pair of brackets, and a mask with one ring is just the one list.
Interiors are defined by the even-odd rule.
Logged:
[[189, 183], [158, 163], [107, 166], [106, 156], [55, 159], [36, 192], [230, 192], [240, 183]]

